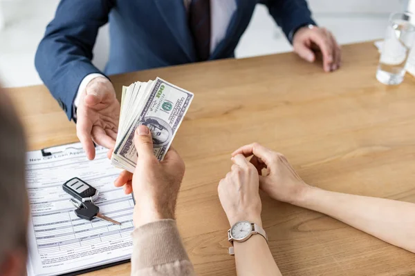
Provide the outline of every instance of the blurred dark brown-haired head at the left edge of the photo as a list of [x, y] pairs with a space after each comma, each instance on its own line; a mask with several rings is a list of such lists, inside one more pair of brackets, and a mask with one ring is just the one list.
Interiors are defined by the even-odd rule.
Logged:
[[0, 88], [0, 275], [26, 273], [28, 198], [24, 130]]

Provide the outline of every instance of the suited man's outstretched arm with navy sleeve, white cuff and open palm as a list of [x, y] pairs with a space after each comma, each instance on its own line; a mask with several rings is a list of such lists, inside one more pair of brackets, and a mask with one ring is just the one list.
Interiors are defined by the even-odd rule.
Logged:
[[118, 132], [116, 92], [91, 63], [98, 29], [107, 23], [115, 1], [61, 0], [35, 57], [39, 75], [53, 97], [68, 119], [77, 119], [77, 137], [89, 159], [95, 157], [93, 142], [113, 148]]

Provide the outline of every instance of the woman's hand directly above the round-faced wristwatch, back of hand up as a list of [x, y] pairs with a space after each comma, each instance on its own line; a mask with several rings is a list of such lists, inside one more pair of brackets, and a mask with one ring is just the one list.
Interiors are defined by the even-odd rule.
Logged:
[[219, 199], [230, 226], [241, 220], [261, 226], [262, 204], [257, 169], [243, 155], [234, 155], [232, 161], [230, 172], [218, 186]]

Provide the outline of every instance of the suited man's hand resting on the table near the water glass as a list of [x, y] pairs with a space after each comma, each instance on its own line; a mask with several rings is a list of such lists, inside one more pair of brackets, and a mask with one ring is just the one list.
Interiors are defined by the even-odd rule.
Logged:
[[333, 34], [325, 28], [302, 27], [295, 32], [293, 37], [294, 52], [309, 62], [315, 61], [315, 50], [320, 50], [323, 56], [323, 68], [331, 72], [340, 68], [342, 50]]

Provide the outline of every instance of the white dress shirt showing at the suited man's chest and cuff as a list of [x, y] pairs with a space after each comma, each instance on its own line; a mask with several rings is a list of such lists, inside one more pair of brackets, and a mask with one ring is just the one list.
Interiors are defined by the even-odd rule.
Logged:
[[[190, 3], [192, 0], [183, 0], [185, 4], [186, 10], [189, 8]], [[210, 53], [216, 49], [216, 46], [223, 40], [225, 37], [226, 31], [228, 30], [228, 26], [230, 23], [230, 19], [234, 14], [235, 10], [237, 10], [237, 2], [236, 0], [210, 0], [210, 14], [212, 20], [210, 21]], [[90, 81], [95, 79], [96, 77], [104, 77], [101, 74], [93, 73], [86, 75], [84, 79], [82, 79], [80, 86], [77, 91], [77, 95], [73, 104], [75, 107], [79, 106], [80, 104], [80, 95], [81, 92], [85, 90], [86, 86]], [[74, 117], [76, 117], [76, 112], [73, 113]]]

